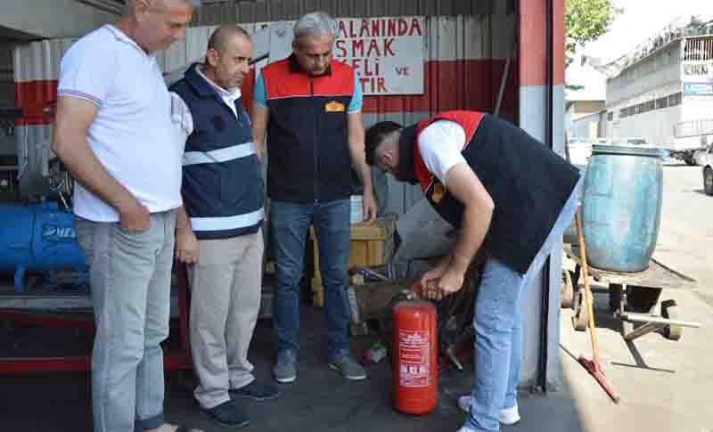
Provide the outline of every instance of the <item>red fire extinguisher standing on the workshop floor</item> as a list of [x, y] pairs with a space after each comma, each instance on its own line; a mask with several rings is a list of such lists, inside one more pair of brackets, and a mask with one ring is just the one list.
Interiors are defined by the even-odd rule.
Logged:
[[407, 414], [431, 412], [438, 404], [436, 307], [410, 292], [393, 318], [394, 406]]

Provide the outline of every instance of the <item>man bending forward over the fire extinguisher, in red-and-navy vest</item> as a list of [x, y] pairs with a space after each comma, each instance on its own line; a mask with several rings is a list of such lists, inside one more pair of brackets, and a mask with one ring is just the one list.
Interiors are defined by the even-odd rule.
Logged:
[[459, 432], [496, 431], [520, 420], [520, 298], [577, 208], [579, 174], [512, 124], [475, 111], [447, 111], [406, 128], [381, 122], [366, 132], [366, 160], [418, 183], [459, 230], [447, 257], [421, 279], [439, 299], [463, 285], [479, 249], [487, 255], [475, 300], [475, 387], [459, 405]]

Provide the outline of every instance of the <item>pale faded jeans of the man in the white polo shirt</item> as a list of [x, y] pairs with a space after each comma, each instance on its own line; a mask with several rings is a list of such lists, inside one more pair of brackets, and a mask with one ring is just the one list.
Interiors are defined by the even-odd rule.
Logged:
[[92, 284], [95, 432], [141, 432], [163, 420], [176, 211], [152, 213], [142, 232], [77, 220]]

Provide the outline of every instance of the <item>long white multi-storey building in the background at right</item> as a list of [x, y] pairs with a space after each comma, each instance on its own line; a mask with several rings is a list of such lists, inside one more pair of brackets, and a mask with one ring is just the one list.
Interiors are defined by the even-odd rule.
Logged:
[[607, 70], [605, 136], [641, 137], [694, 165], [713, 143], [713, 20], [676, 20]]

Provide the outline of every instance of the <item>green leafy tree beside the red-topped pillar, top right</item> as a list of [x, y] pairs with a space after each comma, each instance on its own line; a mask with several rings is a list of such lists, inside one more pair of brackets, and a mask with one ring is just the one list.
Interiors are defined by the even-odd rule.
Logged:
[[567, 63], [574, 60], [578, 46], [592, 42], [609, 31], [611, 23], [624, 10], [614, 7], [613, 0], [567, 0], [564, 17], [567, 29]]

